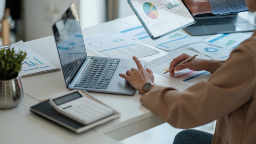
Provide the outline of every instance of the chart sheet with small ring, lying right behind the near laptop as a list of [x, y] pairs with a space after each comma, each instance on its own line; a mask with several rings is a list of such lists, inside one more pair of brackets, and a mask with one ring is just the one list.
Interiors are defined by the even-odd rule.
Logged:
[[132, 56], [142, 58], [159, 53], [116, 31], [84, 37], [84, 42], [88, 50], [102, 57], [131, 59]]

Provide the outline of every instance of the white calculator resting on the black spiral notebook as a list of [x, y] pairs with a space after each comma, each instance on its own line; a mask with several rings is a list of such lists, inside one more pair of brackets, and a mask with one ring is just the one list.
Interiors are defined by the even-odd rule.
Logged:
[[85, 125], [113, 114], [111, 108], [87, 98], [79, 90], [51, 98], [49, 102], [61, 114]]

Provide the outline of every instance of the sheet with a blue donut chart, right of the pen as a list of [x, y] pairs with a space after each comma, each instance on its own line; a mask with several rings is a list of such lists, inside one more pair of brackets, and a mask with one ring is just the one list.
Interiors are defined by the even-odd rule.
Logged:
[[229, 57], [230, 52], [232, 51], [226, 48], [212, 46], [204, 42], [200, 44], [190, 44], [189, 46], [192, 47], [194, 50], [200, 52], [201, 54], [210, 56], [211, 58], [214, 58], [216, 60], [226, 60]]

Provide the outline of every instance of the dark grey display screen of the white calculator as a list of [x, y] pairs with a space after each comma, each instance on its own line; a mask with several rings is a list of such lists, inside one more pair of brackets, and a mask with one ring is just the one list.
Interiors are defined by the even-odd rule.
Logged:
[[79, 92], [72, 92], [71, 94], [61, 96], [60, 98], [55, 98], [52, 101], [55, 102], [55, 104], [60, 105], [80, 97], [82, 97], [82, 95]]

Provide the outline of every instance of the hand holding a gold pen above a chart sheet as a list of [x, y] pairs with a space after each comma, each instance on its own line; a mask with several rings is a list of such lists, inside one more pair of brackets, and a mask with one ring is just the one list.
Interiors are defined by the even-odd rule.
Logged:
[[195, 58], [190, 62], [180, 64], [181, 62], [183, 62], [184, 60], [190, 57], [191, 56], [188, 54], [181, 54], [177, 58], [174, 58], [169, 66], [170, 76], [174, 76], [174, 70], [183, 70], [185, 68], [188, 68], [190, 70], [195, 70], [195, 71], [200, 71], [200, 70], [208, 71], [209, 60], [206, 60], [206, 59]]

